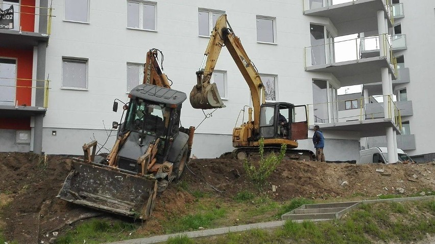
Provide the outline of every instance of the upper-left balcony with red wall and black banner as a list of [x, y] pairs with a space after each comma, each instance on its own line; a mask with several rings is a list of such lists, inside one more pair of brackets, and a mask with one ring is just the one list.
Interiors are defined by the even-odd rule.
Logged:
[[[6, 5], [6, 7], [13, 10], [13, 14], [10, 14], [10, 20], [1, 22], [0, 47], [30, 49], [40, 41], [49, 40], [51, 18], [54, 17], [52, 8], [19, 4]], [[46, 21], [43, 21], [44, 19]], [[36, 21], [39, 21], [38, 29], [35, 29]]]

